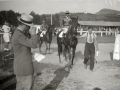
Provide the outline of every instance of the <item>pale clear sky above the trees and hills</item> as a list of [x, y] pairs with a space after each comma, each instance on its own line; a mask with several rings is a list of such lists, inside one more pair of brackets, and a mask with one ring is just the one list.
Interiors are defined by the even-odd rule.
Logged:
[[119, 10], [120, 0], [0, 0], [1, 10], [29, 14], [55, 14], [61, 11], [96, 13], [103, 8]]

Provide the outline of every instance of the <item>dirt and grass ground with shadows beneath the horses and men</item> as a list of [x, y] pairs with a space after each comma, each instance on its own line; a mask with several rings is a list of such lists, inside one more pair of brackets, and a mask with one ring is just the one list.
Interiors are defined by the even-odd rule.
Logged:
[[[34, 90], [120, 90], [120, 61], [112, 60], [114, 43], [99, 43], [100, 53], [96, 56], [97, 63], [93, 72], [89, 70], [89, 63], [87, 69], [84, 68], [84, 45], [77, 45], [74, 66], [70, 73], [65, 68], [66, 61], [63, 57], [62, 63], [59, 63], [55, 43], [51, 45], [51, 54], [46, 54], [41, 62], [33, 59], [35, 72], [39, 73], [35, 77]], [[42, 46], [42, 54], [44, 51], [45, 45]], [[32, 52], [39, 50], [32, 49]], [[6, 73], [8, 77], [0, 81], [0, 90], [15, 88], [15, 76], [12, 75], [11, 69], [7, 71], [9, 73], [1, 70], [0, 80]], [[10, 84], [6, 84], [8, 81]]]

